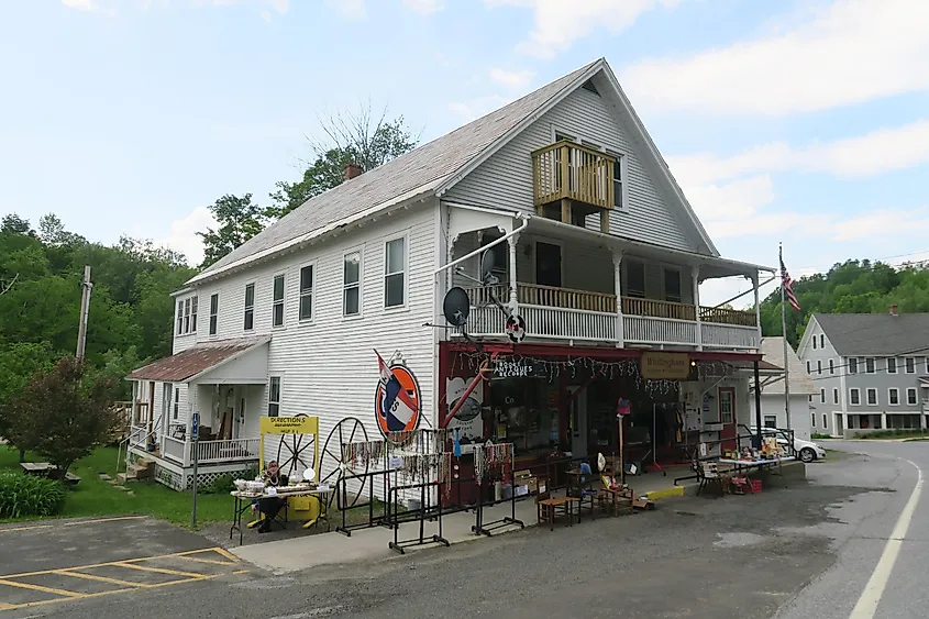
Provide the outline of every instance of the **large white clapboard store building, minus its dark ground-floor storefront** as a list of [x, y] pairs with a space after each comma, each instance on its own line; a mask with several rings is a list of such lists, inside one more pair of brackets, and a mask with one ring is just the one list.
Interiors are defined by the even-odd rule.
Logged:
[[[482, 247], [496, 255], [493, 291], [526, 319], [520, 344], [488, 288], [465, 277], [478, 275]], [[190, 279], [174, 295], [174, 354], [129, 376], [130, 452], [186, 487], [195, 411], [202, 482], [257, 464], [261, 416], [312, 414], [332, 441], [324, 477], [338, 468], [339, 430], [379, 435], [374, 350], [417, 377], [408, 391], [422, 425], [443, 427], [446, 380], [474, 354], [457, 330], [433, 327], [455, 285], [486, 351], [682, 351], [744, 373], [761, 358], [759, 270], [773, 272], [719, 255], [599, 59], [376, 169], [350, 166], [344, 184]], [[751, 281], [755, 308], [703, 306], [700, 283], [719, 277]], [[723, 383], [718, 417], [734, 438], [748, 384]]]

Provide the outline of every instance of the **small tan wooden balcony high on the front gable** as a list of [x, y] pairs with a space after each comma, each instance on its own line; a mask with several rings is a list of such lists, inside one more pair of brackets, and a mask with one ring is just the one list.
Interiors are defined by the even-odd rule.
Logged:
[[616, 159], [593, 148], [562, 141], [532, 153], [535, 206], [563, 198], [611, 209]]

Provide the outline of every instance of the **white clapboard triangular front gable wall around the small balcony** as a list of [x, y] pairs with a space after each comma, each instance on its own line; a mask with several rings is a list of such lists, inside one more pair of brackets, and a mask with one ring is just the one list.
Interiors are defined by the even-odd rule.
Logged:
[[683, 212], [678, 214], [676, 209], [666, 203], [643, 165], [641, 148], [629, 140], [628, 132], [617, 123], [607, 103], [583, 88], [569, 95], [478, 166], [449, 191], [446, 199], [533, 212], [530, 153], [552, 143], [553, 126], [579, 140], [627, 155], [629, 208], [628, 212], [618, 209], [612, 211], [612, 234], [677, 250], [697, 251], [697, 242], [688, 237], [681, 222], [686, 215]]

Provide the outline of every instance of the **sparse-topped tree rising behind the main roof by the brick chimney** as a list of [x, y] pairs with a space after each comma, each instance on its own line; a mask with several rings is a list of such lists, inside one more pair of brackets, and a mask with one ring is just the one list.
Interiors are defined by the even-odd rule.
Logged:
[[321, 123], [325, 140], [312, 142], [312, 162], [305, 162], [306, 169], [296, 183], [278, 181], [270, 195], [273, 206], [266, 213], [279, 219], [310, 198], [341, 185], [345, 166], [357, 164], [362, 173], [416, 148], [419, 137], [413, 137], [403, 117], [387, 119], [385, 109], [380, 117], [372, 115], [371, 106], [361, 107], [357, 113], [330, 117]]

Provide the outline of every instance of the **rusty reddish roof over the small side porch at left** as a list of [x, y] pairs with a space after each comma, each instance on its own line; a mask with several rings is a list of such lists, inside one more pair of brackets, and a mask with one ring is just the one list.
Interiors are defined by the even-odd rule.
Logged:
[[269, 341], [270, 338], [240, 338], [204, 342], [140, 367], [126, 376], [126, 379], [187, 383]]

